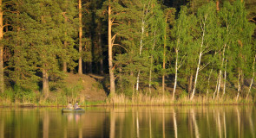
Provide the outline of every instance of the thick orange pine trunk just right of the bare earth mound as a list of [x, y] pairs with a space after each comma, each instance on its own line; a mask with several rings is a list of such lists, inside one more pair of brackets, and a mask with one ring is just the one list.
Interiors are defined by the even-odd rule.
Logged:
[[[110, 2], [110, 0], [109, 0]], [[115, 38], [112, 38], [112, 20], [111, 20], [111, 7], [108, 5], [108, 69], [110, 78], [110, 94], [115, 95], [115, 76], [113, 67], [112, 47]], [[115, 36], [114, 36], [115, 37]]]

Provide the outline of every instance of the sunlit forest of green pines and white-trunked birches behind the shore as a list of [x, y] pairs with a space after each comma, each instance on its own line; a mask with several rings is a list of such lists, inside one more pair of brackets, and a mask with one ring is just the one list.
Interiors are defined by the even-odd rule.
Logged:
[[0, 5], [0, 103], [65, 104], [67, 73], [103, 76], [109, 101], [256, 101], [254, 0]]

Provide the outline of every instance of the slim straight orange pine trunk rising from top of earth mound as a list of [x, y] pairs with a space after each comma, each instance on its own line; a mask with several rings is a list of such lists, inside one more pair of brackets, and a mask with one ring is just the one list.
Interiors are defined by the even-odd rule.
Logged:
[[78, 60], [78, 74], [82, 75], [82, 0], [78, 0], [79, 9], [79, 60]]

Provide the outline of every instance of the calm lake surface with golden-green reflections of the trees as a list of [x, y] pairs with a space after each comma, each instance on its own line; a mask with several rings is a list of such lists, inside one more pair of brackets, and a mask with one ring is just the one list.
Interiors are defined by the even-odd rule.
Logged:
[[0, 138], [255, 137], [255, 106], [0, 108]]

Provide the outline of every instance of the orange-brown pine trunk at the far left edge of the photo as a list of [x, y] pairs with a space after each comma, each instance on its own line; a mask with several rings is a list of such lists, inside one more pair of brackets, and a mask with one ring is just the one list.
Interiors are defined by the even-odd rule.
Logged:
[[[3, 4], [0, 0], [0, 41], [3, 40]], [[4, 91], [4, 79], [3, 79], [3, 44], [0, 46], [0, 93]]]

